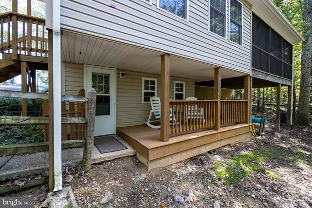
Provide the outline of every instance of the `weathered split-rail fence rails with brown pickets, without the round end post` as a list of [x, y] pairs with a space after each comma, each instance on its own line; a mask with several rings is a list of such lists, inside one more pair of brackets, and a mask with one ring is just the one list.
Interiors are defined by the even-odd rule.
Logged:
[[[80, 95], [84, 95], [84, 91], [81, 91]], [[21, 98], [21, 99], [42, 99], [48, 100], [48, 94], [39, 93], [29, 93], [29, 92], [16, 92], [0, 90], [0, 97], [11, 97], [11, 98]], [[75, 111], [63, 113], [62, 116], [62, 128], [69, 127], [70, 141], [62, 141], [62, 148], [71, 147], [81, 147], [84, 144], [85, 138], [85, 126], [87, 119], [85, 118], [85, 105], [88, 105], [87, 99], [79, 95], [62, 95], [61, 101], [65, 103], [73, 103], [75, 105]], [[70, 104], [71, 110], [73, 109], [73, 104]], [[68, 105], [69, 106], [69, 105]], [[46, 110], [46, 109], [45, 109]], [[75, 113], [74, 113], [75, 112]], [[74, 116], [75, 115], [75, 116]], [[78, 117], [80, 116], [80, 117]], [[47, 132], [47, 127], [49, 125], [49, 117], [46, 115], [42, 116], [14, 116], [14, 115], [1, 115], [0, 125], [43, 125]], [[76, 131], [76, 132], [74, 132]], [[79, 133], [78, 133], [79, 132]], [[66, 132], [67, 134], [67, 128]], [[77, 136], [78, 135], [78, 136]], [[67, 135], [66, 135], [67, 136]], [[80, 137], [79, 137], [80, 136]], [[31, 144], [12, 144], [12, 145], [0, 145], [0, 155], [8, 154], [18, 154], [24, 152], [33, 151], [45, 151], [48, 149], [48, 137], [45, 137], [45, 141], [41, 143], [31, 143]], [[84, 138], [84, 140], [82, 140]], [[67, 140], [67, 139], [66, 139]]]

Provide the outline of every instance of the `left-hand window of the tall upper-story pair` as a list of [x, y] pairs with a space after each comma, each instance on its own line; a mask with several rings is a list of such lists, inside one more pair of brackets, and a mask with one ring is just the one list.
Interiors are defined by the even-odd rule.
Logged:
[[226, 0], [210, 0], [209, 30], [225, 38]]

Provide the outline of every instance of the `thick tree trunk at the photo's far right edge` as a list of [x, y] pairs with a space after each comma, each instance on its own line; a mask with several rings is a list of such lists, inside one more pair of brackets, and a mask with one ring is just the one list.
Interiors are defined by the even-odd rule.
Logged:
[[295, 122], [299, 125], [309, 125], [311, 58], [312, 58], [312, 0], [304, 1], [303, 19], [305, 28], [302, 42], [301, 80], [298, 102], [298, 112]]

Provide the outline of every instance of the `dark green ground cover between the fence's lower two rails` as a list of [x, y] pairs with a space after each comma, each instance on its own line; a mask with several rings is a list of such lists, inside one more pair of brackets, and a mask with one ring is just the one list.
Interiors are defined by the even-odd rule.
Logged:
[[0, 145], [43, 142], [42, 125], [3, 126], [0, 128]]

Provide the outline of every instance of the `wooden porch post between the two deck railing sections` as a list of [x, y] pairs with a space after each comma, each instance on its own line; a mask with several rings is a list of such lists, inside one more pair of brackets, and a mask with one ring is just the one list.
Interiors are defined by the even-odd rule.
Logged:
[[214, 99], [218, 100], [215, 104], [215, 130], [220, 130], [221, 126], [221, 68], [215, 68], [215, 81], [214, 81]]

